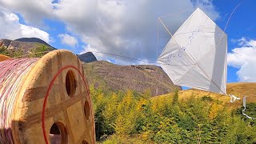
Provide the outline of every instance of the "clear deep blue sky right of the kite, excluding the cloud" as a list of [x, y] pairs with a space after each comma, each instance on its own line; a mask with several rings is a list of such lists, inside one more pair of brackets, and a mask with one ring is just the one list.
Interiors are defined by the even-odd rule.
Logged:
[[[221, 15], [217, 21], [218, 26], [224, 29], [227, 18], [230, 16], [234, 7], [241, 2], [241, 0], [232, 1], [214, 1], [214, 6], [218, 7], [217, 10]], [[232, 39], [240, 39], [242, 37], [255, 39], [256, 38], [256, 2], [253, 0], [244, 0], [238, 9], [234, 11], [233, 16], [230, 18], [230, 22], [226, 28], [226, 34], [228, 35], [228, 52], [231, 52], [234, 48], [238, 47], [238, 42], [232, 42]], [[256, 65], [256, 63], [254, 63]], [[227, 82], [238, 82], [236, 75], [239, 68], [228, 66]]]

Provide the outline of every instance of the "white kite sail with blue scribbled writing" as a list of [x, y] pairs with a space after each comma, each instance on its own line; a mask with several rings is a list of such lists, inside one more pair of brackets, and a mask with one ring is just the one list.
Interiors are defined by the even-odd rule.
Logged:
[[199, 8], [178, 28], [158, 63], [175, 85], [226, 94], [227, 35]]

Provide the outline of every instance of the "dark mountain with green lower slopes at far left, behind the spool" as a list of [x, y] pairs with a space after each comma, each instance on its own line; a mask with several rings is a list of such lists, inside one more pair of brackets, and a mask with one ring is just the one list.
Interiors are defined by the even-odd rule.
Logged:
[[[39, 38], [19, 38], [14, 41], [10, 39], [0, 40], [0, 54], [5, 54], [10, 57], [41, 53], [50, 50], [56, 49]], [[35, 54], [35, 56], [41, 55]]]

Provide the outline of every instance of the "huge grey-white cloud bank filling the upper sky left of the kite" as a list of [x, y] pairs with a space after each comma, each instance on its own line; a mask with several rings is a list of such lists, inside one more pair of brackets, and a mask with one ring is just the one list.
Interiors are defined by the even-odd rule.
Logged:
[[[90, 44], [94, 50], [155, 61], [157, 18], [198, 6], [204, 10], [206, 2], [206, 13], [212, 19], [218, 18], [211, 0], [61, 0], [55, 3], [52, 0], [0, 0], [0, 5], [22, 14], [26, 22], [35, 25], [42, 18], [58, 19], [66, 24], [71, 34]], [[192, 12], [176, 14], [163, 21], [172, 22], [172, 27], [168, 28], [174, 31], [173, 27], [177, 29]], [[162, 33], [165, 33], [163, 29]], [[163, 36], [168, 40], [168, 35]], [[159, 48], [160, 51], [163, 46]], [[102, 55], [102, 58], [110, 56]]]

